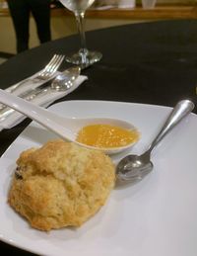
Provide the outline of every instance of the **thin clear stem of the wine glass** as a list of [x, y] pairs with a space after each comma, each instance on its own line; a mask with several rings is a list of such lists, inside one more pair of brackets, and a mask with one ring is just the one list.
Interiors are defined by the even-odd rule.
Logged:
[[80, 39], [81, 39], [80, 53], [82, 54], [82, 56], [85, 57], [88, 53], [88, 49], [87, 49], [87, 45], [86, 45], [86, 36], [85, 36], [85, 30], [84, 30], [84, 15], [85, 15], [84, 12], [75, 13], [78, 32], [79, 32]]

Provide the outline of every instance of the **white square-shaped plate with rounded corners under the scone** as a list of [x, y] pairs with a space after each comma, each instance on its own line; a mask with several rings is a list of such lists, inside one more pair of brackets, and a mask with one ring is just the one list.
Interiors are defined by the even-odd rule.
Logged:
[[[133, 152], [148, 146], [170, 108], [143, 104], [70, 101], [53, 105], [67, 117], [110, 117], [133, 123], [142, 133]], [[107, 204], [82, 227], [37, 231], [6, 203], [20, 152], [54, 135], [35, 123], [0, 159], [0, 239], [41, 255], [196, 256], [197, 117], [190, 115], [153, 154], [154, 171], [143, 181], [116, 188]], [[114, 157], [119, 160], [122, 155]]]

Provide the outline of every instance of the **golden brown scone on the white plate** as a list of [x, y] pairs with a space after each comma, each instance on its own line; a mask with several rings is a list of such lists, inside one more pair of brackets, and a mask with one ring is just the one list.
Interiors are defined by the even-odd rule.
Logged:
[[115, 182], [108, 156], [63, 140], [24, 151], [17, 164], [8, 202], [40, 230], [80, 226]]

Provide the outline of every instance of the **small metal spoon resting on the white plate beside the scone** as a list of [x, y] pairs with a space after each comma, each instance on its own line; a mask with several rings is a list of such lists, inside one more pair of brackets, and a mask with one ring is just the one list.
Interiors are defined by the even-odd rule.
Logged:
[[189, 100], [183, 100], [176, 104], [148, 150], [142, 155], [128, 155], [120, 160], [116, 167], [117, 180], [120, 182], [136, 182], [142, 180], [153, 170], [151, 152], [164, 138], [169, 130], [174, 128], [185, 116], [194, 109], [194, 104]]

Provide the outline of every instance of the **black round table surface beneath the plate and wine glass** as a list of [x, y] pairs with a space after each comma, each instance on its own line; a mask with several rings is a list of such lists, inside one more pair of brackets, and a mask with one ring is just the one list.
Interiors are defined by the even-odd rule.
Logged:
[[[173, 107], [181, 99], [196, 102], [197, 21], [176, 20], [113, 27], [87, 33], [90, 49], [102, 52], [101, 61], [83, 70], [89, 79], [65, 100], [106, 100]], [[78, 36], [44, 43], [0, 65], [0, 88], [32, 75], [54, 53], [79, 47]], [[64, 62], [62, 69], [69, 64]], [[196, 109], [194, 110], [196, 113]], [[146, 119], [146, 117], [145, 117]], [[0, 131], [0, 155], [30, 124]], [[7, 255], [32, 253], [0, 242]]]

